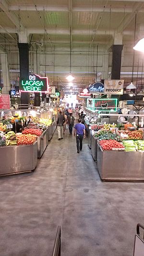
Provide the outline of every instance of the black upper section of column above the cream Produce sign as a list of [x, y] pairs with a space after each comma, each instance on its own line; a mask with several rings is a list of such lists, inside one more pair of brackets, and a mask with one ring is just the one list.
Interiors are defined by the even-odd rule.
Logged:
[[123, 45], [121, 44], [113, 44], [112, 46], [111, 79], [120, 79], [122, 49]]

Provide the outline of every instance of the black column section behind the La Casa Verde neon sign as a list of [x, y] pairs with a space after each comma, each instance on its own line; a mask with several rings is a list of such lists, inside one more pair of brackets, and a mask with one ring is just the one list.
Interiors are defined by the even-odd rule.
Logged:
[[[29, 44], [18, 43], [20, 57], [20, 77], [29, 79]], [[21, 104], [29, 104], [29, 92], [21, 93]]]

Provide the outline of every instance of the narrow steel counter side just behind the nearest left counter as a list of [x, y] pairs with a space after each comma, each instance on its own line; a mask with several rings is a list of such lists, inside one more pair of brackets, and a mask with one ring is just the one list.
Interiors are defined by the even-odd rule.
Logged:
[[41, 158], [47, 146], [47, 130], [45, 130], [41, 136], [37, 138], [37, 158]]

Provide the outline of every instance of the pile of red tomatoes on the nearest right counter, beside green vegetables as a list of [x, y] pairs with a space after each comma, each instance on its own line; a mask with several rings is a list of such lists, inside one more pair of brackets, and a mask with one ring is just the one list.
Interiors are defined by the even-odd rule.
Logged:
[[100, 146], [103, 150], [114, 150], [114, 149], [122, 149], [124, 150], [124, 146], [115, 140], [109, 140], [109, 141], [99, 141]]

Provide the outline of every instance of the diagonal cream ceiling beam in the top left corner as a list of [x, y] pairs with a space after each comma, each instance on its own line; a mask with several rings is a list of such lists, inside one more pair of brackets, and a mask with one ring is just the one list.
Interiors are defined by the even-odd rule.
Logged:
[[11, 12], [9, 10], [9, 5], [8, 5], [7, 0], [0, 0], [0, 8], [3, 10], [4, 13], [6, 13], [8, 18], [12, 21], [14, 26], [16, 26], [18, 31], [20, 29], [20, 26], [21, 26], [21, 30], [24, 29], [24, 26], [22, 24], [20, 25], [17, 15], [14, 12]]

